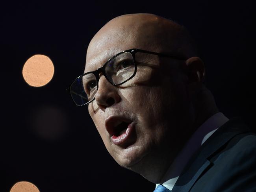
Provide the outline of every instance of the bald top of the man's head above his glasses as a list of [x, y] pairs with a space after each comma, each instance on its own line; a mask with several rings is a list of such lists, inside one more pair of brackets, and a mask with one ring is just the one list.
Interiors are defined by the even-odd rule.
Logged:
[[109, 50], [118, 53], [130, 48], [187, 58], [197, 56], [195, 44], [183, 26], [157, 15], [139, 13], [110, 20], [91, 40], [87, 57], [95, 57], [95, 54], [104, 51], [109, 53]]

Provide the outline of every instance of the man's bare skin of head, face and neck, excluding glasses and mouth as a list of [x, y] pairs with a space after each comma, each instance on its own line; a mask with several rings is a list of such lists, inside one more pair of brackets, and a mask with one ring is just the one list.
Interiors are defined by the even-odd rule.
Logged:
[[[186, 29], [152, 14], [123, 15], [109, 21], [91, 40], [85, 72], [100, 68], [113, 55], [138, 48], [182, 55], [187, 60], [150, 57], [136, 76], [119, 87], [102, 75], [89, 114], [111, 156], [121, 166], [159, 183], [195, 129], [217, 113], [202, 84], [204, 64]], [[125, 114], [135, 126], [123, 146], [111, 141], [105, 120]]]

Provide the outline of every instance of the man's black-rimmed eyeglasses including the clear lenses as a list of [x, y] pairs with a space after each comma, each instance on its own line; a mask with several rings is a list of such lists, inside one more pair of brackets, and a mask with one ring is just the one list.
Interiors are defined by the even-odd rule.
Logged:
[[74, 103], [77, 106], [83, 106], [91, 103], [95, 99], [100, 73], [114, 86], [122, 85], [132, 79], [137, 72], [136, 53], [186, 60], [184, 57], [180, 56], [165, 55], [135, 48], [123, 51], [111, 57], [102, 67], [79, 76], [70, 84], [67, 91], [70, 92]]

